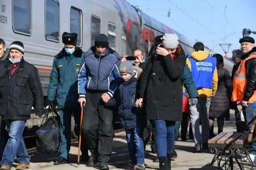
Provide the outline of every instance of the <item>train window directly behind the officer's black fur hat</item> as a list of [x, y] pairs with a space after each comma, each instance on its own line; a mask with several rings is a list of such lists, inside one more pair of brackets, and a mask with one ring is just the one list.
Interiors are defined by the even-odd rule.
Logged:
[[82, 46], [82, 11], [71, 7], [70, 9], [70, 32], [78, 34], [76, 45]]

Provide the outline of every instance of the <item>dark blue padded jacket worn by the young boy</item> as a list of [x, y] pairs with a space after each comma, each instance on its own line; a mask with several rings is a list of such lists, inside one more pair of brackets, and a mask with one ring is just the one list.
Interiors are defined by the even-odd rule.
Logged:
[[139, 98], [137, 78], [132, 76], [130, 80], [124, 82], [121, 80], [117, 90], [116, 98], [111, 98], [106, 106], [117, 106], [120, 125], [125, 129], [133, 129], [135, 127], [145, 127], [146, 118], [144, 111], [135, 107], [136, 99]]

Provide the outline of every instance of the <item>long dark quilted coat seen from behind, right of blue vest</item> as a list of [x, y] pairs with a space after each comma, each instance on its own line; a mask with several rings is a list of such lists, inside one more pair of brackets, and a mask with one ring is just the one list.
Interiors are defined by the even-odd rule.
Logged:
[[218, 88], [211, 98], [209, 117], [221, 118], [229, 114], [229, 101], [232, 94], [233, 82], [224, 64], [217, 64]]

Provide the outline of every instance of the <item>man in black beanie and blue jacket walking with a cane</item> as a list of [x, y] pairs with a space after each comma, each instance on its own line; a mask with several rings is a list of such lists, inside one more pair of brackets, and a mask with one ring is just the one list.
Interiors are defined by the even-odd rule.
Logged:
[[113, 114], [105, 103], [113, 97], [120, 82], [119, 65], [120, 56], [109, 48], [108, 37], [99, 34], [95, 46], [84, 54], [78, 75], [78, 102], [81, 107], [86, 103], [82, 133], [91, 152], [89, 166], [94, 166], [98, 160], [101, 170], [109, 169], [113, 149]]

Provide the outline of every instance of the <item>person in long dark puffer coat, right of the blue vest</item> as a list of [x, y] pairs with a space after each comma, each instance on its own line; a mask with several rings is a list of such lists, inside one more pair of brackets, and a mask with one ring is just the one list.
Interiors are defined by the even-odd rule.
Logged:
[[233, 82], [229, 71], [224, 67], [223, 56], [214, 54], [217, 58], [217, 72], [218, 72], [218, 88], [215, 96], [211, 98], [211, 105], [209, 110], [209, 138], [213, 138], [214, 118], [217, 118], [218, 134], [223, 131], [224, 118], [229, 114], [229, 101], [232, 94]]

